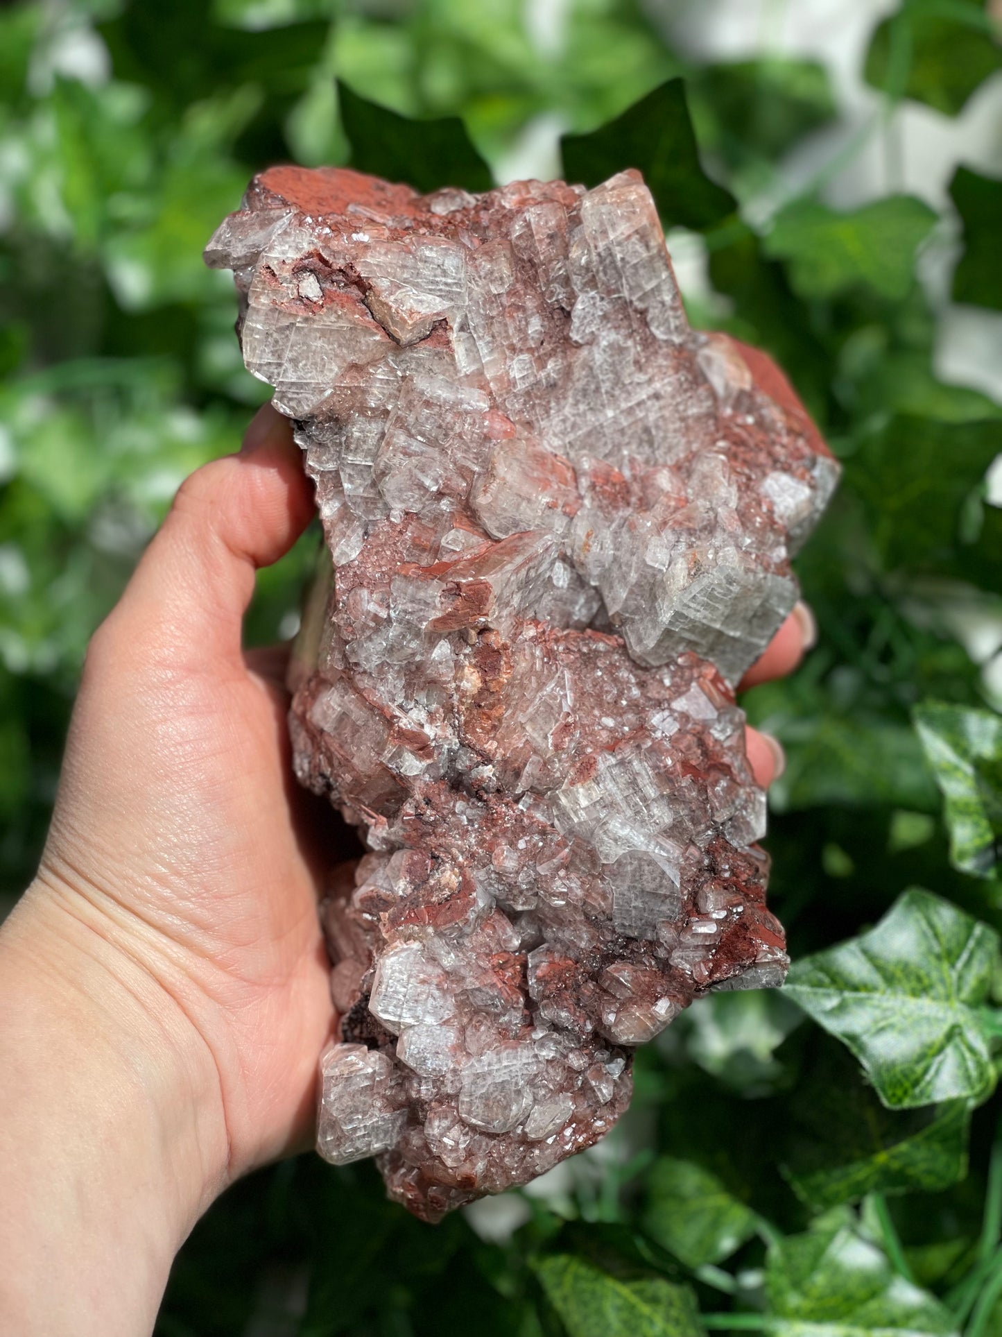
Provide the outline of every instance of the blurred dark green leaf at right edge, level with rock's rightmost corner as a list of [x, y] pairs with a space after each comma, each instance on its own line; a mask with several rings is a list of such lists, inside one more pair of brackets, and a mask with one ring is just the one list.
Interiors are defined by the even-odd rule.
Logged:
[[895, 417], [846, 461], [844, 485], [863, 499], [870, 540], [895, 570], [947, 562], [961, 508], [1002, 451], [1002, 420], [937, 422]]

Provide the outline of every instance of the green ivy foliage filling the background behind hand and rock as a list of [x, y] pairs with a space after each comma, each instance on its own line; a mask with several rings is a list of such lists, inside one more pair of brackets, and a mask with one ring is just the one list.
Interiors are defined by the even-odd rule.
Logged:
[[[0, 894], [32, 874], [88, 635], [176, 484], [266, 393], [228, 277], [200, 262], [251, 172], [480, 186], [558, 115], [574, 179], [644, 168], [707, 257], [693, 321], [770, 349], [844, 463], [799, 567], [819, 646], [745, 699], [790, 757], [768, 845], [796, 965], [782, 995], [693, 1007], [639, 1055], [603, 1148], [486, 1213], [430, 1229], [370, 1166], [311, 1157], [238, 1185], [158, 1332], [999, 1333], [1002, 719], [966, 647], [1002, 610], [1002, 408], [937, 378], [919, 273], [946, 247], [954, 298], [1002, 308], [1002, 183], [962, 166], [942, 214], [894, 191], [838, 213], [820, 178], [770, 193], [835, 115], [820, 66], [692, 66], [633, 0], [569, 0], [560, 52], [524, 16], [0, 8]], [[871, 35], [871, 132], [906, 98], [957, 115], [1001, 66], [977, 0], [906, 0]], [[294, 627], [314, 541], [262, 574], [251, 639]]]

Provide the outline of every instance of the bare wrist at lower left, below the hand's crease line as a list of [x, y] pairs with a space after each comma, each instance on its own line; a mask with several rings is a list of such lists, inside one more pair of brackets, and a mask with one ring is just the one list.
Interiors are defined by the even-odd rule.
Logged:
[[[151, 1328], [176, 1249], [227, 1182], [219, 1076], [127, 935], [52, 881], [0, 931], [0, 1328]], [[59, 1286], [39, 1274], [53, 1255]]]

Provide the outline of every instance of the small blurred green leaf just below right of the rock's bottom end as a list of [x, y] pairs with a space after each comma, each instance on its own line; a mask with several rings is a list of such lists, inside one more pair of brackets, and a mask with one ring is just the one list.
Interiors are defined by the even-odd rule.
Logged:
[[647, 1190], [644, 1227], [687, 1267], [721, 1262], [755, 1234], [755, 1213], [693, 1161], [660, 1157]]

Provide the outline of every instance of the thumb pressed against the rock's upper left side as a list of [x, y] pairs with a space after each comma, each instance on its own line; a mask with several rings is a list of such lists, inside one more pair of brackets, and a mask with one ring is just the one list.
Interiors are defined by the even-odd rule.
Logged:
[[313, 513], [289, 421], [266, 404], [239, 455], [182, 483], [110, 620], [132, 643], [238, 666], [254, 574], [291, 548]]

